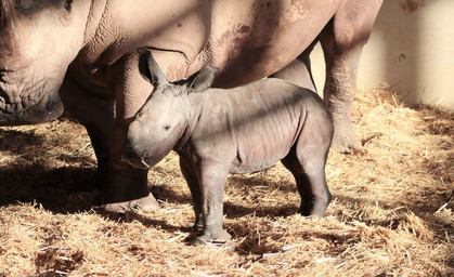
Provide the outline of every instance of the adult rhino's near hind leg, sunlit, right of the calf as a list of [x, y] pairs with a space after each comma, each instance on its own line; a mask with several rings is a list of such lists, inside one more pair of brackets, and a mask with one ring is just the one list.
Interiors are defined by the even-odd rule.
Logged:
[[320, 35], [326, 63], [324, 100], [335, 124], [334, 145], [341, 153], [360, 148], [351, 123], [356, 71], [382, 0], [347, 0]]

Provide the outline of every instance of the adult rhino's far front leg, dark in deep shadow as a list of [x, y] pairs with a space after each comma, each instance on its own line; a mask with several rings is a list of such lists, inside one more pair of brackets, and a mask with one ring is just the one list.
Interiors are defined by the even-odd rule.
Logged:
[[68, 72], [62, 84], [61, 98], [65, 110], [86, 127], [96, 155], [95, 176], [90, 184], [86, 185], [85, 189], [102, 190], [108, 180], [114, 97], [89, 92]]

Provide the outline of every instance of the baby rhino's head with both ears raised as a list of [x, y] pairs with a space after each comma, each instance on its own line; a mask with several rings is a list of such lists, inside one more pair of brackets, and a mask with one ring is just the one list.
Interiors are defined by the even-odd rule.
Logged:
[[129, 124], [122, 158], [137, 168], [151, 168], [164, 159], [183, 135], [190, 117], [189, 94], [203, 92], [218, 69], [205, 66], [186, 80], [169, 82], [150, 50], [139, 50], [139, 70], [153, 84], [148, 100]]

